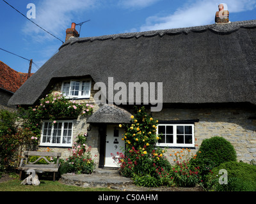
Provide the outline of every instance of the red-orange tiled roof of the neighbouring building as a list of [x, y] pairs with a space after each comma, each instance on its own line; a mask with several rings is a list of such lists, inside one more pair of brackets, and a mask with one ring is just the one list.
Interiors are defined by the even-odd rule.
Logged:
[[[32, 74], [31, 74], [32, 75]], [[0, 61], [0, 88], [15, 92], [28, 79], [28, 73], [21, 73]]]

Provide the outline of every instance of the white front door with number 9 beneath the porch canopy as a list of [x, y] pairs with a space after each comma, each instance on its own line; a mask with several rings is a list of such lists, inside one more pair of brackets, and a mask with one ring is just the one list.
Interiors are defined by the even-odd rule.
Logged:
[[119, 128], [118, 125], [108, 125], [107, 126], [107, 136], [106, 136], [106, 152], [105, 152], [105, 164], [106, 167], [118, 167], [118, 161], [113, 159], [111, 154], [116, 157], [116, 152], [122, 152], [124, 154], [124, 129]]

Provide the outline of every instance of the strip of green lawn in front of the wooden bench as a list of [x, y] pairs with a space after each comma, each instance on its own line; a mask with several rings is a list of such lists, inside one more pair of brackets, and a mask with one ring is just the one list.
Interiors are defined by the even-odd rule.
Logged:
[[107, 187], [68, 186], [52, 180], [40, 180], [39, 186], [22, 185], [21, 182], [19, 179], [13, 179], [0, 183], [0, 191], [115, 191]]

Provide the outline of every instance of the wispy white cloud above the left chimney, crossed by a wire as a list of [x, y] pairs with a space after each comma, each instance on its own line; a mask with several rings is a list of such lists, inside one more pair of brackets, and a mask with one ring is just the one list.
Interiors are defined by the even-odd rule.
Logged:
[[[97, 1], [95, 0], [40, 1], [39, 4], [35, 5], [36, 18], [31, 18], [31, 20], [58, 37], [68, 26], [71, 26], [71, 19], [74, 14], [92, 8], [96, 3]], [[26, 26], [22, 29], [22, 32], [29, 34], [36, 41], [54, 39], [50, 34], [45, 33], [45, 31], [33, 25], [31, 22], [26, 22]]]

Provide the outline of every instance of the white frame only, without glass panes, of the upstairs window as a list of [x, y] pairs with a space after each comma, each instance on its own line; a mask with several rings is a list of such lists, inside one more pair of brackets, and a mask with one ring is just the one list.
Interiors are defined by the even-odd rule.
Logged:
[[[89, 89], [83, 90], [83, 82], [84, 81], [89, 81]], [[65, 94], [65, 91], [63, 91], [64, 88], [64, 84], [69, 82], [69, 91], [68, 94]], [[78, 95], [72, 95], [71, 94], [71, 84], [72, 82], [79, 82], [79, 90], [78, 90]], [[63, 96], [65, 96], [66, 98], [70, 98], [70, 99], [79, 99], [79, 98], [90, 98], [91, 95], [91, 89], [92, 89], [92, 80], [90, 78], [85, 78], [83, 80], [68, 80], [68, 81], [64, 81], [61, 84], [61, 92], [63, 93]], [[88, 91], [88, 94], [83, 94], [83, 91]]]

